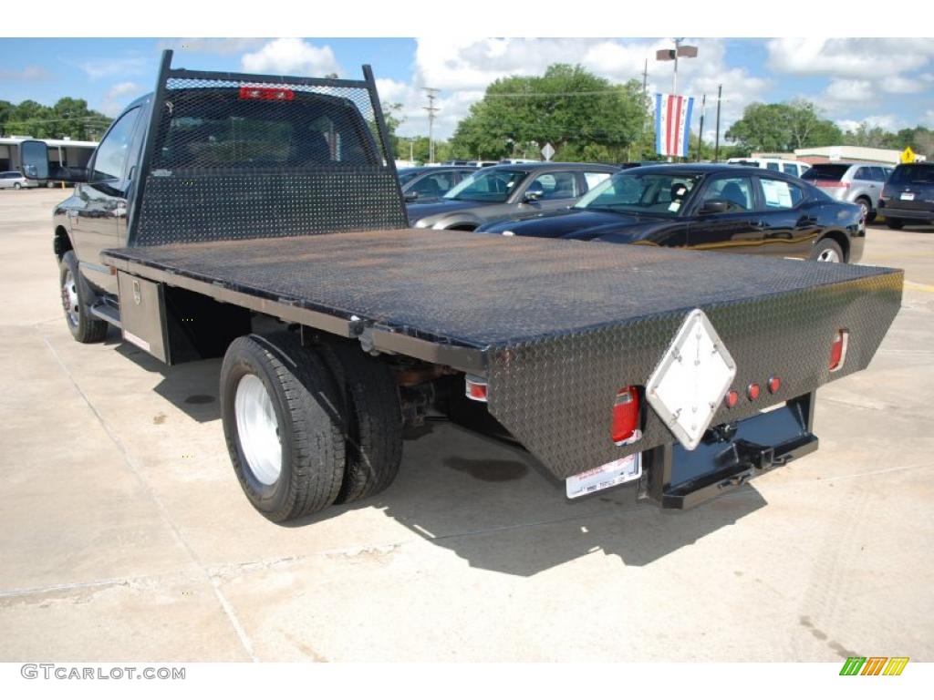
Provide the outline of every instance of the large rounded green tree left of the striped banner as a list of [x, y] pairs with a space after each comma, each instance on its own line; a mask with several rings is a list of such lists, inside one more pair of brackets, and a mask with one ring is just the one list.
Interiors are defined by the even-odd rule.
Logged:
[[614, 85], [580, 65], [556, 63], [544, 76], [504, 77], [489, 85], [460, 120], [452, 153], [495, 160], [550, 143], [556, 160], [626, 160], [646, 114], [635, 80]]

